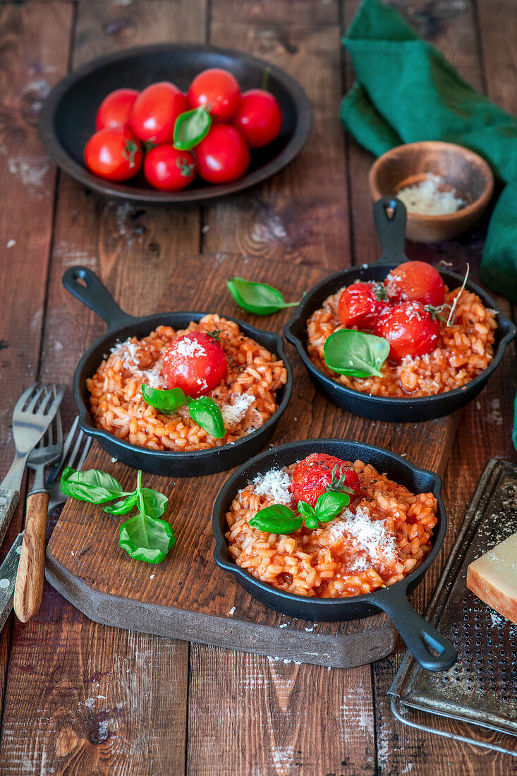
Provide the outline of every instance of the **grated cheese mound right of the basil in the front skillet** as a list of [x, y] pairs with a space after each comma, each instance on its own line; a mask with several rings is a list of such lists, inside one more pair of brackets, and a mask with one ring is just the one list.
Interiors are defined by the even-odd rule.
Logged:
[[356, 540], [359, 549], [363, 549], [377, 563], [397, 556], [394, 534], [387, 532], [384, 520], [372, 520], [370, 512], [364, 507], [358, 507], [356, 514], [344, 509], [340, 517], [340, 520], [328, 525], [332, 539], [340, 539], [347, 532]]

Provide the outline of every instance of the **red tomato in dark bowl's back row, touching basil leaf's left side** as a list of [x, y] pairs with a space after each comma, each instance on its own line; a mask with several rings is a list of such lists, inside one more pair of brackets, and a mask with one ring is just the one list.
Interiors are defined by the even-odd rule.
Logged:
[[141, 140], [171, 143], [175, 120], [189, 109], [186, 96], [168, 81], [147, 86], [135, 100], [131, 128]]

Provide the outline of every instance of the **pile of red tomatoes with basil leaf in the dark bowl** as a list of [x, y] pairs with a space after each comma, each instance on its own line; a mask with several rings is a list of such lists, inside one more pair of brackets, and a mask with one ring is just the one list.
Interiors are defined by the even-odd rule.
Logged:
[[210, 68], [196, 75], [186, 94], [160, 81], [142, 92], [121, 88], [107, 95], [85, 163], [109, 181], [127, 181], [143, 168], [147, 182], [166, 192], [185, 189], [196, 174], [228, 183], [245, 174], [250, 148], [271, 143], [281, 127], [282, 112], [270, 92], [241, 92], [234, 75]]

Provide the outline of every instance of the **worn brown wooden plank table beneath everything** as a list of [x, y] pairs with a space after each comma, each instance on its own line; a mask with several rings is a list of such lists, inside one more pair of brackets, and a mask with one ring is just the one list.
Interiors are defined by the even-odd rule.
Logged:
[[[232, 251], [335, 271], [373, 261], [370, 154], [345, 137], [340, 98], [352, 84], [340, 38], [357, 0], [27, 0], [0, 4], [0, 449], [14, 452], [12, 406], [36, 378], [71, 386], [78, 356], [103, 331], [61, 285], [97, 272], [133, 314], [151, 313], [189, 256]], [[517, 113], [515, 0], [397, 0], [418, 32], [475, 87]], [[60, 174], [37, 114], [50, 88], [86, 61], [145, 43], [240, 48], [285, 68], [314, 107], [314, 130], [289, 168], [210, 206], [131, 206]], [[484, 228], [411, 258], [444, 259], [474, 277]], [[506, 314], [505, 300], [498, 300]], [[293, 355], [293, 352], [290, 351]], [[446, 468], [451, 528], [413, 595], [422, 611], [489, 458], [511, 441], [515, 349], [460, 417]], [[75, 407], [68, 390], [64, 421]], [[422, 440], [425, 443], [425, 440]], [[23, 501], [23, 500], [22, 500]], [[5, 548], [22, 527], [19, 505]], [[10, 618], [0, 639], [0, 773], [515, 774], [517, 760], [394, 721], [387, 699], [404, 645], [385, 660], [328, 670], [98, 625], [48, 584], [39, 615]], [[449, 723], [446, 723], [449, 724]], [[453, 730], [454, 726], [449, 725]]]

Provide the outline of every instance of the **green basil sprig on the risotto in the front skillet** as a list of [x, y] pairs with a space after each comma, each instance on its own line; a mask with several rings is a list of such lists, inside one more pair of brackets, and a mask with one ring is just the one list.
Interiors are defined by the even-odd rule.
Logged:
[[290, 534], [304, 525], [306, 528], [317, 528], [318, 523], [328, 523], [350, 504], [348, 493], [338, 493], [335, 490], [322, 493], [313, 508], [307, 501], [298, 501], [297, 513], [284, 504], [272, 504], [260, 509], [249, 521], [252, 528], [259, 528], [276, 534]]

